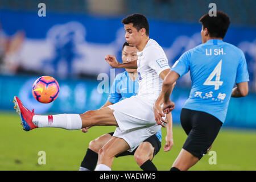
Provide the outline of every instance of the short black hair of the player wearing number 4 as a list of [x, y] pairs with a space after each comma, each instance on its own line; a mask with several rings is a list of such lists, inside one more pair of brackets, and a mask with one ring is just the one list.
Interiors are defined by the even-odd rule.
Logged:
[[230, 18], [223, 11], [217, 11], [217, 16], [209, 16], [205, 14], [199, 20], [203, 24], [203, 28], [207, 28], [211, 37], [224, 38], [228, 31]]

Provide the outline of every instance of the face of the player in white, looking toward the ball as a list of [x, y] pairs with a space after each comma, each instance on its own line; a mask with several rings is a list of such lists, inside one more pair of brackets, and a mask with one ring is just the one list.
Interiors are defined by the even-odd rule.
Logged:
[[130, 46], [138, 46], [141, 43], [141, 31], [133, 27], [133, 23], [125, 24], [125, 39]]

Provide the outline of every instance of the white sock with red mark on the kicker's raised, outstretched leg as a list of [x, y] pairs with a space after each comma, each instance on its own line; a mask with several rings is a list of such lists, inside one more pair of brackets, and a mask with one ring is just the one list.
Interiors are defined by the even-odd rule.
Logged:
[[60, 127], [67, 130], [82, 128], [79, 114], [34, 115], [32, 122], [38, 127]]

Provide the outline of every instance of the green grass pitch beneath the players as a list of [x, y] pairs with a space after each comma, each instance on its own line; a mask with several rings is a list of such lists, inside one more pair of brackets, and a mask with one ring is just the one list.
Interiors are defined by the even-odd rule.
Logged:
[[[64, 129], [23, 131], [18, 114], [0, 113], [0, 170], [78, 170], [90, 140], [114, 131], [115, 127], [92, 127], [88, 133]], [[164, 152], [163, 142], [153, 162], [162, 171], [169, 170], [186, 139], [180, 125], [174, 126], [174, 147]], [[38, 164], [39, 151], [46, 152], [46, 164]], [[256, 131], [221, 129], [211, 151], [216, 151], [216, 163], [206, 154], [190, 170], [256, 170]], [[133, 156], [115, 158], [115, 171], [141, 170]]]

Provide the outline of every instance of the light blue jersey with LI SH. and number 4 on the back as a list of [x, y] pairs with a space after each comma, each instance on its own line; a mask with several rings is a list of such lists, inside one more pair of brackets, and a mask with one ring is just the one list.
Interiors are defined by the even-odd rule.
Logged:
[[190, 71], [192, 88], [183, 108], [204, 111], [225, 121], [234, 84], [249, 81], [245, 55], [232, 44], [210, 39], [183, 53], [171, 71]]

